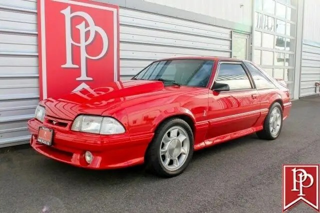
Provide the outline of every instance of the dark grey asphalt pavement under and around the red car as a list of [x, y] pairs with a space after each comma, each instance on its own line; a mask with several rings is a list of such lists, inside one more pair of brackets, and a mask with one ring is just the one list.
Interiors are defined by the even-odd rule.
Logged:
[[[281, 165], [320, 163], [320, 97], [292, 102], [280, 136], [197, 151], [165, 179], [143, 166], [86, 170], [28, 146], [0, 149], [0, 212], [281, 212]], [[291, 212], [314, 212], [301, 203]]]

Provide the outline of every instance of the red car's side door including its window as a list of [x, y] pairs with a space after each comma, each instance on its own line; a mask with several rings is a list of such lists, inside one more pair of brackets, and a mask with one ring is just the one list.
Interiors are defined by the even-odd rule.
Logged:
[[244, 64], [241, 61], [220, 61], [214, 83], [227, 83], [229, 91], [209, 91], [206, 138], [250, 130], [260, 116], [260, 101]]

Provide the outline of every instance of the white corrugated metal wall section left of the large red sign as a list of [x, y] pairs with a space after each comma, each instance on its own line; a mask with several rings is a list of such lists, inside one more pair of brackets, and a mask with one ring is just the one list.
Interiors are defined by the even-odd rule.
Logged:
[[0, 146], [29, 139], [39, 96], [35, 5], [0, 1]]

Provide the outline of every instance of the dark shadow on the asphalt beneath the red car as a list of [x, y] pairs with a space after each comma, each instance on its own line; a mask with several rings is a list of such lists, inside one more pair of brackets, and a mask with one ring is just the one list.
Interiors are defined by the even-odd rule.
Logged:
[[[202, 161], [205, 161], [208, 157], [211, 160], [214, 160], [215, 154], [220, 152], [225, 152], [229, 149], [235, 149], [238, 146], [243, 146], [248, 143], [256, 143], [257, 137], [255, 134], [247, 135], [241, 138], [233, 139], [225, 143], [220, 143], [208, 148], [204, 148], [193, 153], [193, 158], [191, 160], [191, 165], [202, 164]], [[261, 140], [263, 141], [263, 140]], [[42, 157], [42, 156], [41, 156]], [[218, 160], [218, 159], [217, 159]], [[55, 175], [59, 176], [59, 178], [67, 178], [72, 179], [73, 181], [79, 182], [98, 182], [99, 180], [103, 180], [108, 182], [108, 184], [117, 184], [123, 182], [123, 180], [130, 180], [139, 178], [139, 179], [158, 179], [160, 177], [152, 175], [148, 170], [146, 170], [144, 165], [132, 166], [128, 168], [120, 168], [120, 169], [107, 169], [107, 170], [89, 170], [85, 168], [78, 168], [72, 165], [68, 165], [62, 162], [57, 162], [51, 159], [43, 160], [39, 165], [39, 168], [43, 168], [47, 170], [55, 171]], [[190, 167], [190, 166], [189, 166]], [[191, 166], [192, 167], [192, 166]], [[198, 168], [191, 168], [198, 169]], [[188, 170], [188, 169], [187, 169]]]

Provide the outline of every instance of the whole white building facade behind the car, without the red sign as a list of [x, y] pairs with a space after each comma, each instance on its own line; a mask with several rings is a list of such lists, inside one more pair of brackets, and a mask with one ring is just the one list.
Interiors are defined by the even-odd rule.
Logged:
[[[210, 55], [253, 60], [291, 97], [319, 93], [318, 0], [96, 0], [119, 9], [120, 78], [151, 61]], [[0, 1], [0, 147], [26, 143], [39, 98], [36, 0]]]

